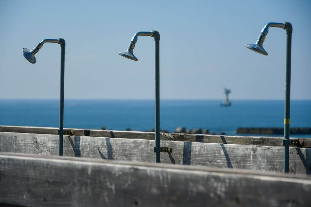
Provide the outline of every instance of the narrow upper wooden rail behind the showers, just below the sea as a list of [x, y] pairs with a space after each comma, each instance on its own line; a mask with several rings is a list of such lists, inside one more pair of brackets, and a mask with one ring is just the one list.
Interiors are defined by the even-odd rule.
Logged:
[[[75, 135], [77, 136], [149, 139], [149, 140], [155, 139], [155, 134], [153, 132], [71, 129], [71, 128], [66, 128], [66, 129], [74, 130]], [[57, 134], [57, 130], [58, 128], [50, 128], [50, 127], [0, 126], [1, 132]], [[160, 140], [219, 143], [219, 144], [283, 146], [282, 137], [252, 137], [252, 136], [160, 133]], [[297, 146], [298, 145], [297, 143], [299, 142], [300, 143], [299, 146], [311, 147], [311, 139], [290, 138], [290, 140], [291, 140], [291, 146]]]

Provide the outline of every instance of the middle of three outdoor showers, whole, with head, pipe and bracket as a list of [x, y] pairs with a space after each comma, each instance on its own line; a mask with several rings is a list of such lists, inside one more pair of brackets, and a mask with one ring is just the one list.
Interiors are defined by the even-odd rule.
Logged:
[[156, 162], [160, 162], [160, 152], [171, 152], [171, 148], [160, 147], [160, 34], [158, 31], [151, 32], [137, 32], [131, 39], [128, 49], [124, 52], [118, 52], [119, 55], [128, 59], [137, 61], [137, 57], [133, 54], [135, 44], [138, 36], [151, 36], [155, 39], [156, 46], [156, 101], [155, 101], [155, 140], [156, 146], [154, 152], [156, 153]]

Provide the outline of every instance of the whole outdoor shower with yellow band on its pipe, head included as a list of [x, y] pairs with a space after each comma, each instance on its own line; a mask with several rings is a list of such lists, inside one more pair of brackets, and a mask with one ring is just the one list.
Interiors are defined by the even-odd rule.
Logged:
[[281, 27], [286, 30], [286, 68], [285, 68], [285, 113], [284, 113], [284, 173], [289, 170], [289, 145], [290, 145], [290, 66], [291, 66], [291, 36], [293, 27], [289, 22], [269, 22], [265, 25], [255, 44], [248, 44], [245, 47], [263, 55], [268, 55], [262, 45], [266, 39], [270, 27]]

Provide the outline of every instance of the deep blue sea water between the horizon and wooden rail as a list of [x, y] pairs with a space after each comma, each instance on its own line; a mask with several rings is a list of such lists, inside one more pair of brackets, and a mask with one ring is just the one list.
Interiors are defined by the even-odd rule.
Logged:
[[[161, 100], [160, 128], [208, 128], [235, 135], [238, 127], [283, 127], [284, 101]], [[311, 127], [311, 100], [292, 100], [291, 127]], [[58, 127], [58, 100], [0, 100], [0, 125]], [[65, 100], [64, 127], [149, 131], [154, 128], [153, 100]], [[280, 136], [282, 135], [274, 135]], [[291, 135], [311, 137], [311, 135]]]

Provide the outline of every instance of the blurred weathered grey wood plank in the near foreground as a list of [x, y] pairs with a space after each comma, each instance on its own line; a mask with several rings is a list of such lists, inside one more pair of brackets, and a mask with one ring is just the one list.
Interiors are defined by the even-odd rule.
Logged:
[[[0, 202], [29, 206], [308, 206], [311, 179], [0, 153]], [[280, 193], [281, 192], [281, 193]]]

